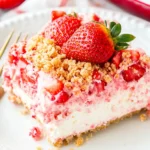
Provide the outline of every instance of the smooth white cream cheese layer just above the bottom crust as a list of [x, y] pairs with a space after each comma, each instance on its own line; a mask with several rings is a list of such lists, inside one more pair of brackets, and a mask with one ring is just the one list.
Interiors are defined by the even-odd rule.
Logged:
[[[131, 87], [132, 86], [134, 86], [134, 82], [133, 85], [131, 83]], [[15, 87], [13, 92], [30, 107], [32, 100], [20, 88]], [[75, 97], [73, 99], [75, 99]], [[90, 99], [97, 99], [97, 97], [92, 95]], [[110, 97], [109, 102], [102, 100], [101, 103], [89, 105], [85, 108], [82, 107], [80, 111], [73, 111], [67, 118], [59, 120], [58, 122], [52, 121], [50, 123], [44, 123], [41, 114], [36, 114], [36, 116], [43, 123], [50, 140], [55, 143], [58, 139], [80, 134], [87, 130], [94, 129], [97, 126], [104, 125], [111, 120], [121, 118], [136, 110], [146, 108], [149, 99], [150, 83], [145, 83], [144, 78], [141, 78], [139, 82], [136, 83], [134, 92], [131, 89], [118, 89], [118, 91]], [[78, 107], [80, 107], [80, 105]]]

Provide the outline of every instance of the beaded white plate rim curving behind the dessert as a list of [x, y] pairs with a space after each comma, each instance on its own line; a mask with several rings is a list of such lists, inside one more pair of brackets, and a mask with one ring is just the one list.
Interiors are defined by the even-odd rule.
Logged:
[[[150, 30], [150, 22], [142, 19], [142, 18], [139, 18], [137, 16], [134, 16], [132, 14], [127, 14], [126, 12], [119, 12], [119, 11], [115, 11], [115, 10], [109, 10], [107, 8], [97, 8], [97, 7], [85, 7], [85, 8], [81, 8], [81, 7], [53, 7], [53, 8], [48, 8], [48, 9], [45, 9], [45, 10], [40, 10], [40, 11], [35, 11], [35, 12], [29, 12], [29, 13], [25, 13], [25, 14], [21, 14], [21, 15], [17, 15], [17, 16], [13, 16], [12, 18], [8, 18], [7, 20], [2, 20], [0, 22], [0, 28], [4, 28], [5, 26], [9, 26], [9, 24], [11, 23], [15, 23], [19, 20], [25, 20], [25, 19], [31, 19], [33, 17], [38, 17], [38, 16], [41, 16], [41, 15], [45, 15], [47, 14], [48, 12], [52, 11], [52, 10], [64, 10], [64, 11], [73, 11], [73, 10], [76, 10], [76, 11], [83, 11], [83, 12], [88, 12], [87, 10], [93, 10], [95, 9], [95, 11], [101, 11], [101, 12], [108, 12], [110, 14], [115, 14], [115, 15], [120, 15], [120, 16], [123, 16], [123, 17], [127, 17], [128, 19], [131, 19], [131, 20], [135, 20], [137, 23], [142, 23], [146, 28], [148, 28]], [[86, 10], [86, 11], [85, 11]], [[79, 12], [80, 13], [80, 12]], [[131, 21], [130, 20], [130, 21]]]

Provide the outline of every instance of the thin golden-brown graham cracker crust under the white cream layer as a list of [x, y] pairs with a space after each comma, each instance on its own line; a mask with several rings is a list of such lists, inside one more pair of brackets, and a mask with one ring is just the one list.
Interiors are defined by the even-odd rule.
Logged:
[[[13, 102], [15, 104], [22, 104], [22, 105], [24, 105], [22, 103], [21, 99], [18, 96], [16, 96], [14, 93], [10, 93], [10, 96], [8, 98], [9, 98], [9, 100], [11, 102]], [[90, 130], [88, 130], [86, 132], [80, 133], [79, 135], [72, 135], [72, 136], [66, 137], [65, 139], [59, 139], [55, 143], [52, 143], [51, 140], [48, 138], [48, 142], [53, 144], [56, 147], [62, 147], [64, 145], [68, 145], [72, 141], [75, 141], [75, 145], [76, 146], [81, 146], [85, 141], [88, 141], [88, 139], [92, 137], [92, 133], [98, 132], [100, 130], [104, 130], [109, 125], [114, 124], [114, 123], [118, 123], [121, 120], [124, 120], [126, 118], [131, 118], [133, 115], [139, 114], [143, 110], [145, 110], [145, 108], [143, 108], [141, 110], [136, 110], [136, 111], [131, 112], [129, 114], [126, 114], [126, 115], [122, 116], [121, 118], [117, 118], [115, 120], [111, 120], [111, 121], [107, 122], [104, 125], [97, 126], [95, 129], [90, 129]], [[37, 121], [39, 121], [39, 120], [37, 120]], [[84, 137], [86, 137], [86, 138], [84, 138]]]

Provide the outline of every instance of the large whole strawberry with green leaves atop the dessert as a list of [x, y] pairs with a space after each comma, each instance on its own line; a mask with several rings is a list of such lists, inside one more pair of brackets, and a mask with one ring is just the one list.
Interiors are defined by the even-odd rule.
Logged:
[[126, 49], [126, 42], [135, 38], [130, 34], [119, 35], [120, 32], [119, 23], [111, 23], [110, 29], [104, 23], [85, 23], [64, 43], [61, 52], [79, 61], [104, 63], [111, 58], [115, 49]]

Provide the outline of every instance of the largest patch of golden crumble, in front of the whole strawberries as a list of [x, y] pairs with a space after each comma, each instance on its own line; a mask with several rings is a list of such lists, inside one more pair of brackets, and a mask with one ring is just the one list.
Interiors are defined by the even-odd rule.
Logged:
[[92, 81], [93, 70], [97, 69], [101, 74], [101, 79], [111, 82], [112, 75], [116, 73], [116, 66], [106, 62], [104, 66], [92, 64], [90, 62], [80, 62], [67, 59], [65, 54], [60, 53], [60, 47], [50, 39], [38, 35], [30, 39], [27, 43], [25, 57], [33, 65], [46, 73], [51, 73], [52, 77], [57, 77], [63, 81], [68, 89], [78, 94], [81, 90], [86, 90], [87, 85]]

